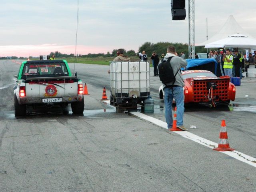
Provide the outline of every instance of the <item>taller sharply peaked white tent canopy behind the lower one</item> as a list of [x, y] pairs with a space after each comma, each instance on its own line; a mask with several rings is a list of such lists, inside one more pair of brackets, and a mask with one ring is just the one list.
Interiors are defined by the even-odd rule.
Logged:
[[[216, 28], [218, 28], [218, 26], [216, 26]], [[236, 33], [244, 34], [245, 36], [248, 36], [248, 38], [254, 39], [254, 37], [250, 36], [250, 34], [248, 34], [238, 24], [238, 22], [236, 22], [235, 18], [232, 15], [230, 15], [228, 17], [228, 20], [226, 20], [225, 24], [222, 26], [219, 32], [217, 32], [214, 36], [212, 36], [207, 41], [202, 42], [200, 44], [196, 44], [195, 46], [205, 46], [206, 44], [227, 38], [228, 36], [231, 36], [232, 34], [236, 34]]]

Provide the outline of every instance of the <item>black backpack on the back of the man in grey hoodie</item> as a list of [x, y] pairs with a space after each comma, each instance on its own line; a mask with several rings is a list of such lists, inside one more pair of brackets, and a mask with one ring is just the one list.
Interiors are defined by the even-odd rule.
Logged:
[[158, 65], [159, 78], [163, 84], [173, 82], [172, 83], [172, 85], [173, 85], [176, 80], [175, 76], [179, 72], [179, 70], [178, 70], [175, 75], [173, 74], [172, 66], [170, 63], [172, 58], [173, 57], [169, 57], [167, 61], [164, 61], [164, 59], [162, 59], [161, 63]]

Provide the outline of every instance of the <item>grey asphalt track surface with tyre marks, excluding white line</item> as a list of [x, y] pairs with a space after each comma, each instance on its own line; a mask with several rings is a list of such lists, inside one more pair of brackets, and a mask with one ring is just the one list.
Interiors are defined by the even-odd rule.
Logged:
[[[110, 94], [108, 66], [76, 64], [90, 94], [83, 116], [72, 115], [68, 107], [66, 113], [29, 109], [25, 118], [15, 118], [12, 88], [18, 62], [0, 60], [1, 192], [255, 191], [254, 166], [100, 102], [104, 86]], [[233, 111], [187, 107], [184, 124], [196, 126], [189, 132], [218, 143], [225, 119], [230, 146], [255, 158], [255, 84], [243, 79]], [[148, 115], [164, 121], [159, 86], [152, 77], [155, 112]]]

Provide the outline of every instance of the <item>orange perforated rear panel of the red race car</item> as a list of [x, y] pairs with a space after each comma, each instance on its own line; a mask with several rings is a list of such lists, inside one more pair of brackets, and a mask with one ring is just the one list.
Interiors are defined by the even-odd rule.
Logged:
[[213, 90], [214, 101], [228, 100], [228, 86], [229, 79], [216, 80], [194, 80], [193, 82], [193, 102], [208, 102], [209, 90], [207, 89], [207, 82], [216, 84]]

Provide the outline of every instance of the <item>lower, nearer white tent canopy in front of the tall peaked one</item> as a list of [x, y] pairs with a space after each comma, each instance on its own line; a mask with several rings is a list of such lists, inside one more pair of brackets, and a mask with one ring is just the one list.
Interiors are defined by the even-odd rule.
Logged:
[[256, 39], [249, 38], [243, 34], [233, 34], [227, 38], [208, 43], [204, 48], [255, 48]]

